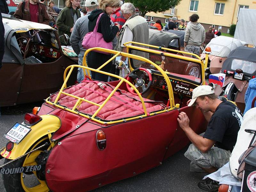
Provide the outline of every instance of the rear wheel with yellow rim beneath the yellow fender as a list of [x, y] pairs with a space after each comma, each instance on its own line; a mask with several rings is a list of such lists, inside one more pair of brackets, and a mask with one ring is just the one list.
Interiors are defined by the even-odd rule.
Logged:
[[[32, 147], [28, 150], [31, 151], [45, 142], [49, 143], [48, 137], [42, 137], [37, 140]], [[24, 156], [8, 165], [5, 168], [15, 168], [15, 167], [24, 167], [29, 165], [36, 165], [35, 158], [48, 147], [45, 146], [40, 148], [27, 156]], [[27, 151], [27, 152], [28, 152]], [[5, 159], [4, 163], [8, 163], [9, 159]], [[37, 177], [36, 171], [28, 173], [16, 173], [16, 174], [3, 174], [4, 187], [6, 192], [48, 192], [49, 188], [47, 187], [45, 180], [40, 180]]]

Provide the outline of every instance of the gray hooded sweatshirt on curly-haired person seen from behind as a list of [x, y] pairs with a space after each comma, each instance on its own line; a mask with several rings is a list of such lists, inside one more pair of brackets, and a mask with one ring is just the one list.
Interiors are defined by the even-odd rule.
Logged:
[[200, 46], [204, 43], [205, 39], [205, 30], [200, 23], [191, 23], [187, 26], [184, 42], [187, 45]]

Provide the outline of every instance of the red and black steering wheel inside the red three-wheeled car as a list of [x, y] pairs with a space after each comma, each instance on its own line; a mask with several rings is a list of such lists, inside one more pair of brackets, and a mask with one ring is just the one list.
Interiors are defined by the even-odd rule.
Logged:
[[[144, 82], [143, 79], [141, 79], [139, 76], [137, 76], [136, 72], [138, 71], [144, 71], [145, 73], [148, 74], [148, 78], [149, 78], [149, 82], [148, 82], [148, 86], [146, 87], [146, 84]], [[145, 69], [145, 68], [137, 68], [137, 69], [134, 69], [130, 75], [127, 77], [127, 80], [130, 81], [131, 83], [133, 82], [133, 80], [136, 81], [136, 84], [134, 85], [136, 88], [137, 87], [141, 87], [142, 88], [142, 92], [140, 93], [141, 95], [143, 93], [145, 93], [146, 91], [148, 91], [151, 83], [152, 83], [152, 76], [151, 76], [151, 73]], [[134, 89], [132, 89], [132, 87], [130, 87], [130, 85], [128, 83], [126, 83], [126, 88], [127, 90], [132, 93], [133, 95], [138, 95]]]

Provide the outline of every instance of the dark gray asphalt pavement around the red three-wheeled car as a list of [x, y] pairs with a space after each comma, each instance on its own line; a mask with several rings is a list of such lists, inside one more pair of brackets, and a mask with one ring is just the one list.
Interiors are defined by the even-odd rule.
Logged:
[[[40, 103], [32, 103], [15, 107], [2, 107], [0, 116], [0, 148], [7, 139], [4, 133], [16, 122], [22, 122], [24, 114], [32, 110], [33, 106]], [[184, 157], [188, 146], [180, 152], [169, 157], [162, 165], [138, 174], [132, 178], [117, 181], [92, 192], [204, 192], [197, 187], [197, 183], [204, 177], [205, 173], [189, 171], [189, 160]], [[3, 164], [4, 159], [0, 160]], [[5, 192], [2, 176], [0, 176], [0, 192]]]

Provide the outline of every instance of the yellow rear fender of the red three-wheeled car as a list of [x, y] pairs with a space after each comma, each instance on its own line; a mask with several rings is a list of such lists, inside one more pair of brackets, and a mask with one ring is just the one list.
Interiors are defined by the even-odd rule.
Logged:
[[19, 143], [14, 143], [13, 149], [8, 152], [5, 150], [1, 153], [1, 156], [7, 159], [15, 159], [25, 154], [28, 149], [40, 138], [48, 135], [49, 139], [52, 133], [60, 128], [61, 121], [57, 116], [42, 115], [42, 121], [31, 126], [31, 131], [26, 137]]

